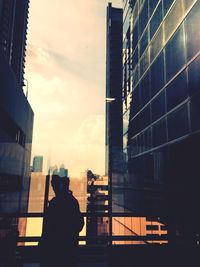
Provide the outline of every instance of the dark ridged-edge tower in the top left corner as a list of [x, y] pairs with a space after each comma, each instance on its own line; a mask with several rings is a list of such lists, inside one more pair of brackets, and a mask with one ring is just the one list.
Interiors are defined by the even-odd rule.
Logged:
[[24, 82], [29, 0], [1, 0], [0, 46], [20, 86]]

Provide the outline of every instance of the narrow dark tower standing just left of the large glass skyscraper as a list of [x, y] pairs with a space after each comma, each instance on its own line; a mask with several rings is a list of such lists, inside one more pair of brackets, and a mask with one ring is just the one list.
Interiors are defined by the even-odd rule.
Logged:
[[123, 171], [122, 9], [111, 3], [107, 7], [106, 34], [106, 175], [114, 199], [115, 177]]

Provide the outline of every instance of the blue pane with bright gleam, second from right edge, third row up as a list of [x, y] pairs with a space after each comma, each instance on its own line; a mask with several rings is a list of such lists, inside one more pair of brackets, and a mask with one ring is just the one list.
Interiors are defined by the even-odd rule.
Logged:
[[166, 78], [169, 81], [185, 64], [185, 39], [183, 25], [179, 28], [170, 42], [166, 51]]

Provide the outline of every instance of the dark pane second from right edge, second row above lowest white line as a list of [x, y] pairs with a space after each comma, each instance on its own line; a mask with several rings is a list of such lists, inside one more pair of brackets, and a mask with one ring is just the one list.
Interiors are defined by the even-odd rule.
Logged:
[[187, 73], [183, 71], [166, 88], [167, 110], [174, 108], [188, 97]]

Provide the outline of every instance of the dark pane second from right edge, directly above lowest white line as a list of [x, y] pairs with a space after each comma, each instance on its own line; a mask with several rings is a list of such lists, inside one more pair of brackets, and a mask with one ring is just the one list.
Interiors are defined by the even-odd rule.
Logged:
[[168, 139], [173, 140], [188, 133], [187, 104], [178, 108], [168, 116]]

